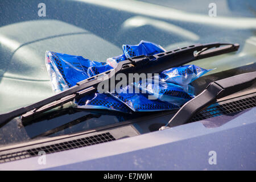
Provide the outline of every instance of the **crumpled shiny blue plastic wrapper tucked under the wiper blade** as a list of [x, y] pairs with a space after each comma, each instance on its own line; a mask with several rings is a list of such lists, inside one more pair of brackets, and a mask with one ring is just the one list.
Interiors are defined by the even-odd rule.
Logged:
[[[108, 58], [106, 62], [91, 61], [82, 56], [72, 56], [52, 51], [46, 52], [46, 67], [51, 78], [54, 92], [61, 92], [86, 78], [115, 68], [117, 63], [127, 57], [154, 55], [165, 50], [150, 42], [141, 41], [138, 45], [123, 45], [123, 54]], [[184, 65], [171, 68], [146, 82], [134, 82], [121, 88], [121, 93], [93, 93], [74, 103], [85, 109], [107, 109], [131, 113], [131, 111], [159, 111], [179, 109], [194, 97], [193, 87], [189, 85], [196, 78], [210, 71], [196, 65]], [[154, 81], [158, 81], [156, 84]], [[142, 93], [129, 93], [130, 88], [137, 88]], [[148, 98], [154, 99], [148, 99]]]

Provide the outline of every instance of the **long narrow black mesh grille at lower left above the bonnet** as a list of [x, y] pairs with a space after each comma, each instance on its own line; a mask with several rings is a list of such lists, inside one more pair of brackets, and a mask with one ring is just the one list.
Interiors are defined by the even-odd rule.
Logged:
[[0, 163], [37, 156], [39, 151], [44, 151], [46, 152], [46, 154], [51, 154], [53, 152], [70, 150], [73, 148], [85, 147], [93, 144], [110, 142], [113, 140], [115, 140], [115, 138], [109, 132], [102, 133], [102, 134], [93, 135], [90, 137], [69, 140], [67, 142], [61, 142], [61, 143], [51, 144], [48, 146], [31, 148], [29, 150], [13, 152], [11, 154], [6, 154], [6, 155], [0, 155]]

